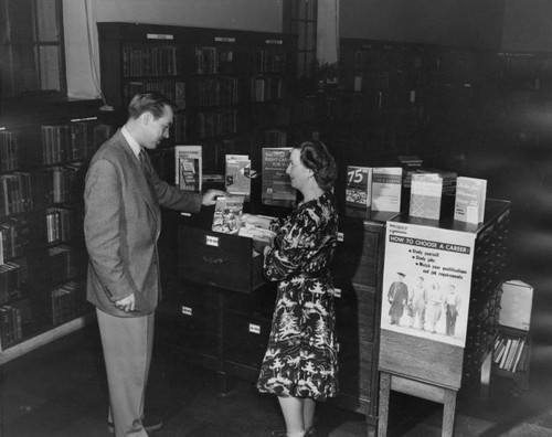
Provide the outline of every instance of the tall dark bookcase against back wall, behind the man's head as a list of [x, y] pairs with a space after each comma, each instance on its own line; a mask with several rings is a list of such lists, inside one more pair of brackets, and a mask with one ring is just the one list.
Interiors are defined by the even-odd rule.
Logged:
[[[124, 108], [135, 93], [159, 90], [178, 106], [171, 138], [159, 152], [174, 143], [201, 145], [204, 172], [223, 173], [227, 153], [250, 154], [255, 166], [263, 147], [304, 134], [297, 126], [311, 108], [294, 97], [294, 36], [123, 22], [97, 26], [109, 105]], [[172, 173], [161, 177], [170, 181]]]

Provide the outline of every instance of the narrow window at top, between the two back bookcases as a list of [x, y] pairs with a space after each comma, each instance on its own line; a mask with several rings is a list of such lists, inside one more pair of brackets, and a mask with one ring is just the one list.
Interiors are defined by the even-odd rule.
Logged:
[[309, 78], [316, 60], [318, 0], [284, 0], [284, 33], [297, 35], [297, 78]]

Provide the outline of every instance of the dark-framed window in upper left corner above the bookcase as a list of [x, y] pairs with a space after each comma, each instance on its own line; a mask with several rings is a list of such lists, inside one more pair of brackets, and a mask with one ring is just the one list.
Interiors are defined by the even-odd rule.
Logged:
[[0, 0], [0, 97], [66, 95], [62, 0]]

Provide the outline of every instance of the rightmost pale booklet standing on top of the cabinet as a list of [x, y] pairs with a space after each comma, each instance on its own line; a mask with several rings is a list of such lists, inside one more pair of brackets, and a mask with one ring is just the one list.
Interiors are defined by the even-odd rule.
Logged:
[[456, 178], [454, 220], [478, 224], [485, 218], [487, 181], [485, 179]]

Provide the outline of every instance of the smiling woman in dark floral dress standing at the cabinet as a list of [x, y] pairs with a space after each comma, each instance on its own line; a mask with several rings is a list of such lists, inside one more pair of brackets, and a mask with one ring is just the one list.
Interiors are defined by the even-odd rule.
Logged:
[[304, 142], [291, 151], [286, 170], [302, 201], [284, 220], [246, 214], [244, 220], [276, 231], [262, 248], [264, 274], [278, 281], [276, 308], [257, 388], [278, 401], [287, 431], [312, 436], [317, 401], [338, 394], [333, 284], [329, 264], [338, 234], [331, 189], [337, 168], [322, 142]]

